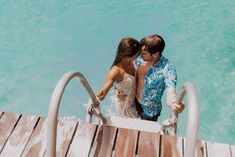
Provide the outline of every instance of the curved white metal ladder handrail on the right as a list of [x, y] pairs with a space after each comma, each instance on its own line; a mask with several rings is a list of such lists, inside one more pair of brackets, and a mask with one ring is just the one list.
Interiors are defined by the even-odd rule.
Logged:
[[193, 157], [195, 154], [198, 133], [198, 97], [194, 86], [191, 83], [185, 83], [182, 85], [177, 96], [178, 104], [183, 100], [186, 93], [188, 95], [188, 119], [186, 129], [185, 157]]

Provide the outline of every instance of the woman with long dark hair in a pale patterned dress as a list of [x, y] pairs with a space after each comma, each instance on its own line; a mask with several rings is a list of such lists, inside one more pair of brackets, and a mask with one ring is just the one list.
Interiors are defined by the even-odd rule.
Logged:
[[133, 61], [140, 53], [140, 43], [133, 38], [123, 38], [116, 52], [115, 60], [107, 74], [104, 86], [98, 92], [97, 97], [103, 100], [111, 86], [127, 95], [127, 99], [120, 101], [115, 97], [117, 114], [122, 117], [139, 118], [135, 108], [134, 98], [136, 95], [135, 67]]

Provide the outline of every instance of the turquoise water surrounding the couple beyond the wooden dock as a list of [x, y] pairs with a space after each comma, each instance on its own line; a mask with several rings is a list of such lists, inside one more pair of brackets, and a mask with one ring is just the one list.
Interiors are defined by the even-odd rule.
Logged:
[[[178, 89], [199, 95], [199, 139], [235, 144], [235, 3], [224, 1], [0, 1], [0, 109], [47, 115], [59, 78], [82, 72], [102, 86], [119, 40], [161, 34], [175, 64]], [[84, 119], [87, 96], [76, 80], [61, 116]], [[112, 94], [112, 93], [111, 93]], [[163, 99], [165, 102], [165, 99]], [[111, 109], [109, 97], [103, 112]], [[169, 109], [164, 106], [160, 120]], [[187, 112], [180, 116], [185, 135]]]

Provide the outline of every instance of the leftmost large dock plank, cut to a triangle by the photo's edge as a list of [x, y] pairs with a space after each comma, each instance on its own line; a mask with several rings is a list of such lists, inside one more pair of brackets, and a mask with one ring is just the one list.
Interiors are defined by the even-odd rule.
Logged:
[[20, 115], [15, 113], [4, 112], [2, 115], [0, 119], [0, 152], [2, 151], [19, 118]]

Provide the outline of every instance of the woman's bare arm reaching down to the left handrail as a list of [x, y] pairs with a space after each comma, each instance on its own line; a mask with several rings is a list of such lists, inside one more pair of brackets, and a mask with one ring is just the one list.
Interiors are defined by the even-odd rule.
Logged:
[[104, 86], [96, 95], [99, 100], [103, 100], [105, 98], [109, 89], [112, 87], [113, 83], [117, 80], [118, 77], [120, 77], [120, 70], [118, 67], [113, 67], [106, 76]]

